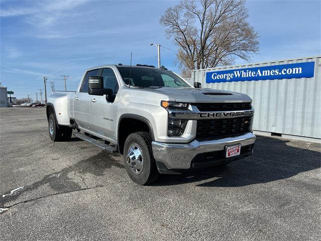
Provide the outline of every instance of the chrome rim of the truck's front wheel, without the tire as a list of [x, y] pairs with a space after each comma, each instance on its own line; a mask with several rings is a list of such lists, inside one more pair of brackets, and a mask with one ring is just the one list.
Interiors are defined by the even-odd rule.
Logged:
[[130, 167], [130, 170], [136, 175], [139, 175], [144, 167], [144, 161], [141, 154], [141, 149], [137, 144], [134, 143], [130, 145], [126, 156], [126, 163]]

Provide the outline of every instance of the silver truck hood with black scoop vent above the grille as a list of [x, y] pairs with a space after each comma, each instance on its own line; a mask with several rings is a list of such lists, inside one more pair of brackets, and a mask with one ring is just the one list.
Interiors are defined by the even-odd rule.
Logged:
[[207, 88], [146, 88], [144, 90], [172, 95], [177, 102], [251, 102], [252, 99], [242, 93]]

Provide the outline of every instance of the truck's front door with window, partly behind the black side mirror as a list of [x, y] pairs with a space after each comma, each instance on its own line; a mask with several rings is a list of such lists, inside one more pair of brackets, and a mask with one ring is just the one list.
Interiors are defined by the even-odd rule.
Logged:
[[[114, 71], [111, 68], [104, 68], [101, 76], [104, 80], [104, 88], [112, 89], [114, 97], [116, 97], [119, 85]], [[106, 95], [91, 95], [91, 97], [93, 101], [90, 101], [90, 129], [110, 141], [116, 140], [116, 102], [108, 102]]]

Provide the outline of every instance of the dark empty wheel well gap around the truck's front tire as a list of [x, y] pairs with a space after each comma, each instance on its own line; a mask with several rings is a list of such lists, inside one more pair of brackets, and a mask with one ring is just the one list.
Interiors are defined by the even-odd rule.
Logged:
[[134, 132], [147, 132], [152, 135], [149, 126], [136, 118], [122, 118], [118, 126], [118, 151], [123, 154], [126, 138]]

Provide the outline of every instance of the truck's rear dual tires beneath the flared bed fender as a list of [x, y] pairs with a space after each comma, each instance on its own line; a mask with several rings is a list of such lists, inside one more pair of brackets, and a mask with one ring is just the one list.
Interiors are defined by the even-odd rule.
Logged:
[[70, 141], [72, 128], [58, 125], [55, 114], [48, 119], [49, 136], [53, 142]]

